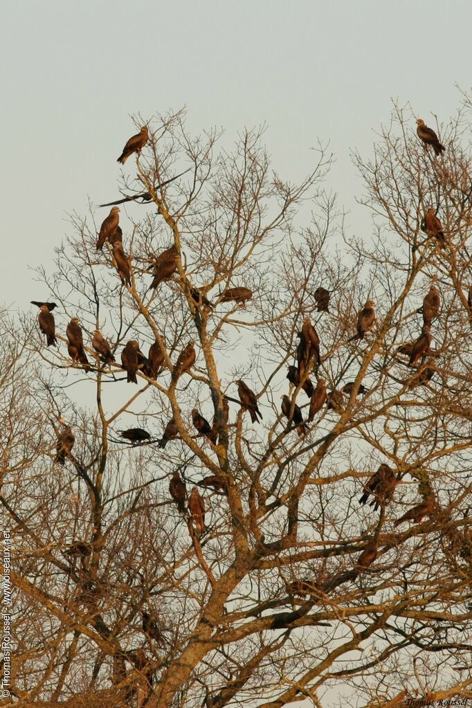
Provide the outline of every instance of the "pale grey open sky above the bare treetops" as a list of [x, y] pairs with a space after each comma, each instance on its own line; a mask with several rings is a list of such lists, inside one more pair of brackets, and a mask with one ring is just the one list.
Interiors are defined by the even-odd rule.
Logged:
[[[117, 155], [133, 126], [188, 107], [198, 131], [267, 122], [277, 171], [297, 179], [330, 139], [330, 186], [354, 206], [350, 147], [369, 151], [391, 97], [447, 120], [454, 84], [471, 79], [466, 0], [18, 1], [2, 3], [4, 278], [0, 302], [47, 295], [28, 266], [48, 267], [67, 212], [113, 199]], [[412, 130], [414, 130], [412, 121]], [[100, 210], [101, 222], [106, 212]], [[359, 224], [362, 214], [353, 213]], [[365, 215], [366, 228], [368, 217]]]

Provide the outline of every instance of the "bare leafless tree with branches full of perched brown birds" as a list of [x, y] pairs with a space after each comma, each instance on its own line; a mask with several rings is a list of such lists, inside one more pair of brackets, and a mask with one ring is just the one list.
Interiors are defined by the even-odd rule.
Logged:
[[122, 174], [146, 197], [122, 247], [96, 249], [106, 214], [71, 218], [39, 272], [57, 348], [25, 319], [37, 422], [4, 486], [22, 704], [471, 697], [469, 110], [434, 126], [439, 156], [398, 106], [354, 155], [363, 239], [323, 145], [291, 183], [262, 130], [219, 149], [181, 112]]

